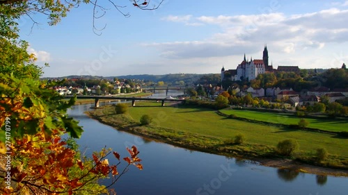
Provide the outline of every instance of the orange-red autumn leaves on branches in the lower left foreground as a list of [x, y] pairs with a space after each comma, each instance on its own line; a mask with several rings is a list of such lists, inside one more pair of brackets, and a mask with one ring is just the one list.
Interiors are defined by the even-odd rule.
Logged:
[[[52, 132], [50, 137], [42, 132], [25, 135], [22, 139], [17, 139], [11, 149], [13, 166], [6, 170], [5, 163], [1, 163], [0, 167], [2, 194], [109, 194], [107, 188], [116, 183], [130, 165], [143, 169], [135, 146], [127, 148], [130, 156], [123, 158], [127, 166], [119, 173], [118, 153], [104, 148], [93, 153], [92, 159], [81, 158], [79, 151], [61, 141], [58, 131]], [[109, 164], [107, 158], [111, 153], [118, 164]], [[6, 187], [7, 171], [10, 171], [12, 178], [10, 188]], [[101, 178], [111, 178], [111, 184], [98, 184]]]

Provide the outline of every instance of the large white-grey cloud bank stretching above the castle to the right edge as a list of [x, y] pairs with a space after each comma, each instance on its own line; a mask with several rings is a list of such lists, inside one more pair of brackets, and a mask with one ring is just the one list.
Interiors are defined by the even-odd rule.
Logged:
[[[347, 42], [348, 37], [345, 26], [348, 24], [348, 10], [338, 8], [289, 16], [271, 12], [216, 17], [170, 16], [166, 20], [184, 24], [198, 22], [221, 28], [220, 33], [205, 40], [146, 45], [158, 49], [162, 58], [172, 59], [252, 55], [261, 53], [264, 44], [271, 46], [273, 53], [291, 54], [303, 49], [322, 49], [329, 42]], [[262, 58], [262, 53], [255, 58]]]

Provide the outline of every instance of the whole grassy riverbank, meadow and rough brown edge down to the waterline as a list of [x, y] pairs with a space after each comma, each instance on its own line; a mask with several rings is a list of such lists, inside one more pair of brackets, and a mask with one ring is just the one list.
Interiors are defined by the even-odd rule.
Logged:
[[[347, 146], [346, 142], [342, 142], [347, 141], [347, 139], [331, 146], [331, 143], [323, 144], [321, 141], [322, 139], [329, 140], [329, 137], [327, 137], [329, 135], [309, 132], [287, 132], [275, 127], [269, 131], [268, 126], [250, 124], [243, 121], [239, 121], [238, 125], [236, 125], [233, 119], [225, 119], [216, 115], [212, 110], [137, 105], [140, 106], [129, 108], [128, 115], [114, 115], [112, 106], [89, 112], [88, 115], [118, 130], [124, 130], [128, 133], [186, 149], [230, 157], [248, 158], [269, 167], [290, 168], [331, 176], [348, 176], [347, 165], [345, 164], [345, 162], [348, 162], [347, 151], [344, 148], [340, 149], [341, 146]], [[152, 115], [154, 121], [151, 125], [140, 126], [139, 118], [143, 114]], [[207, 121], [207, 119], [209, 120]], [[234, 128], [229, 128], [231, 124], [235, 124]], [[235, 145], [227, 142], [228, 137], [232, 138], [241, 131], [239, 128], [244, 130], [244, 135], [247, 139], [246, 143]], [[276, 132], [282, 132], [283, 135]], [[285, 159], [276, 155], [274, 146], [279, 140], [285, 139], [281, 137], [296, 138], [296, 134], [299, 133], [300, 151], [295, 153], [294, 158]], [[304, 138], [301, 139], [301, 137]], [[306, 137], [308, 137], [309, 140], [307, 142], [309, 143], [306, 143]], [[314, 141], [312, 139], [322, 143], [319, 146], [327, 147], [329, 153], [331, 153], [326, 162], [313, 161], [313, 149], [319, 146], [313, 144], [312, 142]], [[330, 141], [337, 142], [335, 139]], [[335, 153], [335, 151], [338, 151], [338, 153]], [[313, 166], [303, 162], [326, 167]]]

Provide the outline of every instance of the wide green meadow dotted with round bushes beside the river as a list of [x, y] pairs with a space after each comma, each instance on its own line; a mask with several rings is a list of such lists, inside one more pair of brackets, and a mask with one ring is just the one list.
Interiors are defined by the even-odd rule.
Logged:
[[[150, 101], [137, 102], [135, 107], [129, 106], [128, 112], [123, 115], [116, 115], [112, 105], [90, 112], [89, 115], [118, 130], [160, 142], [244, 158], [284, 158], [277, 155], [276, 145], [284, 139], [295, 139], [299, 149], [291, 159], [323, 167], [348, 168], [348, 139], [338, 135], [230, 119], [206, 108], [187, 105], [162, 107]], [[152, 117], [150, 125], [141, 126], [140, 118], [143, 115]], [[246, 137], [243, 144], [232, 144], [231, 140], [237, 134]], [[315, 160], [315, 152], [320, 148], [330, 154], [325, 162]]]

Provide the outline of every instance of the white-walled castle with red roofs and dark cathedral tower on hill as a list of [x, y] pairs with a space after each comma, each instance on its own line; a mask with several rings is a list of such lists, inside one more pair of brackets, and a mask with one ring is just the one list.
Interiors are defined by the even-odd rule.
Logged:
[[253, 80], [259, 74], [263, 74], [266, 71], [273, 71], [273, 66], [268, 63], [268, 50], [267, 46], [264, 46], [262, 60], [253, 60], [250, 58], [250, 61], [246, 59], [244, 54], [244, 60], [237, 66], [237, 69], [225, 70], [223, 67], [221, 69], [221, 81], [225, 76], [230, 77], [230, 80]]

